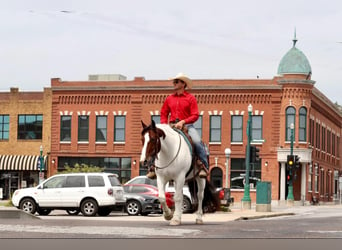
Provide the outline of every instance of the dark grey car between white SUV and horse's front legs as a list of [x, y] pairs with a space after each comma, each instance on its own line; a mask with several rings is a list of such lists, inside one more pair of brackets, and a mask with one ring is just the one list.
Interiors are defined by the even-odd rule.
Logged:
[[148, 215], [162, 213], [157, 197], [144, 194], [124, 193], [126, 197], [125, 212], [128, 215]]

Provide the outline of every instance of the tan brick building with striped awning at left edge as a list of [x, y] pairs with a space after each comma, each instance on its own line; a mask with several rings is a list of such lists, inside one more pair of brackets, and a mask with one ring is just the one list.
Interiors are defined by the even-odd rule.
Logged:
[[[9, 198], [17, 188], [35, 185], [39, 172], [50, 175], [50, 129], [50, 88], [43, 92], [11, 88], [0, 93], [0, 198]], [[39, 169], [41, 149], [45, 169]]]

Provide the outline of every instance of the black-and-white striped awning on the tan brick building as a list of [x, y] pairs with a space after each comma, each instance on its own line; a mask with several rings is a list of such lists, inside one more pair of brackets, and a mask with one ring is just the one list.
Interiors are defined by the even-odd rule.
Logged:
[[[47, 167], [47, 156], [44, 166]], [[0, 155], [0, 170], [33, 170], [39, 171], [39, 155]]]

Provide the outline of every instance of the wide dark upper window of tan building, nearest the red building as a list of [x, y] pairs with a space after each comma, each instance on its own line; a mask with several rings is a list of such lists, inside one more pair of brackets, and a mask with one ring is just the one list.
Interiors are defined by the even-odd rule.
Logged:
[[43, 115], [18, 115], [18, 139], [42, 139]]

